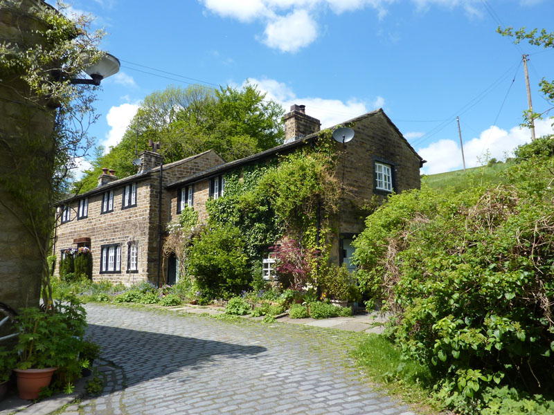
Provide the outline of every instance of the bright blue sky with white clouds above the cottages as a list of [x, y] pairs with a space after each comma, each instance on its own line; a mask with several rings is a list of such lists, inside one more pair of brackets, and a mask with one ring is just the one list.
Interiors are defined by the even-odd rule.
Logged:
[[[554, 31], [553, 0], [75, 0], [71, 9], [96, 16], [102, 48], [122, 64], [102, 82], [91, 128], [107, 147], [145, 95], [169, 84], [250, 80], [285, 109], [305, 104], [322, 127], [382, 107], [428, 174], [462, 168], [456, 116], [467, 167], [530, 140], [519, 129], [523, 53], [534, 109], [550, 107], [538, 83], [554, 79], [554, 49], [515, 46], [495, 30]], [[537, 136], [551, 123], [537, 122]]]

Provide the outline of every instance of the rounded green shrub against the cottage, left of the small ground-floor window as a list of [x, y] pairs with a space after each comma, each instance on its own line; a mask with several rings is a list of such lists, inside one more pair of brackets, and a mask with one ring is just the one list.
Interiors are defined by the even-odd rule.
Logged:
[[188, 250], [188, 268], [209, 298], [238, 295], [251, 278], [242, 232], [231, 225], [206, 228]]

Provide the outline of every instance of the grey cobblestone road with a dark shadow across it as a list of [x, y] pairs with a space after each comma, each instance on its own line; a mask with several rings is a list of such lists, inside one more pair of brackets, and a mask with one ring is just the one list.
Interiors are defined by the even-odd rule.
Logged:
[[348, 360], [357, 333], [87, 305], [104, 393], [74, 414], [413, 415]]

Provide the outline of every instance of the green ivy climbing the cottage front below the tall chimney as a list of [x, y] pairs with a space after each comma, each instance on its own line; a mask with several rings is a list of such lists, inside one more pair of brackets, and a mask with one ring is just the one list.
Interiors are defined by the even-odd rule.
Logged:
[[340, 196], [330, 135], [322, 131], [310, 147], [226, 174], [225, 195], [206, 203], [211, 225], [239, 228], [252, 259], [285, 234], [306, 248], [325, 246]]

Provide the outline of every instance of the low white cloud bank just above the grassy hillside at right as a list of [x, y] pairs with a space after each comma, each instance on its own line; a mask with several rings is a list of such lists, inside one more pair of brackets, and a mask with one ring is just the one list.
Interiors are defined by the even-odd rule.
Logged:
[[[554, 133], [552, 120], [537, 120], [535, 134], [537, 137]], [[485, 129], [479, 137], [464, 142], [465, 167], [476, 167], [485, 162], [487, 152], [490, 158], [502, 160], [511, 156], [515, 147], [530, 141], [530, 131], [526, 128], [512, 127], [506, 131], [499, 127]], [[422, 172], [436, 174], [463, 168], [461, 149], [456, 140], [439, 140], [425, 148], [418, 149], [418, 154], [427, 160]]]

